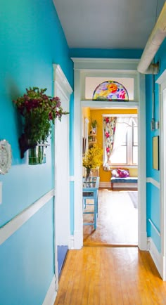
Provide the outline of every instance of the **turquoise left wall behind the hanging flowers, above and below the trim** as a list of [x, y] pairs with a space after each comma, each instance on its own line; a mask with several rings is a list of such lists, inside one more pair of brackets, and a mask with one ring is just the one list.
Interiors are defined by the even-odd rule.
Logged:
[[[27, 154], [20, 159], [22, 129], [12, 100], [29, 86], [53, 95], [53, 63], [73, 86], [73, 65], [52, 0], [2, 0], [0, 28], [0, 139], [13, 155], [8, 174], [0, 175], [1, 227], [53, 188], [53, 146], [46, 148], [46, 164], [29, 166]], [[73, 99], [70, 122], [72, 116]], [[71, 160], [72, 151], [71, 131]], [[53, 278], [53, 200], [0, 246], [0, 270], [1, 305], [42, 304]]]

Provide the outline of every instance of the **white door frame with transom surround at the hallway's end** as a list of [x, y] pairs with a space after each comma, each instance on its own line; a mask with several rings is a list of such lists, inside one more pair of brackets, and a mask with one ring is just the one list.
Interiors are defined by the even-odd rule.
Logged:
[[[83, 219], [82, 219], [82, 107], [91, 108], [138, 108], [139, 126], [139, 169], [138, 169], [138, 246], [142, 250], [147, 249], [146, 233], [146, 100], [145, 100], [145, 76], [137, 72], [139, 60], [115, 60], [99, 58], [72, 58], [75, 69], [75, 228], [74, 247], [80, 249], [83, 246]], [[135, 102], [98, 102], [84, 100], [85, 74], [93, 71], [98, 76], [103, 74], [131, 73], [136, 82]], [[102, 75], [101, 75], [102, 74]]]

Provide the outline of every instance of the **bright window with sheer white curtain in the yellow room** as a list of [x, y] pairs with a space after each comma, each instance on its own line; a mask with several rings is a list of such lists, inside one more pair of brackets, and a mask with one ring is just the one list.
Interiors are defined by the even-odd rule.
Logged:
[[[105, 140], [104, 140], [105, 142]], [[106, 150], [106, 142], [105, 142]], [[137, 117], [117, 117], [115, 138], [110, 155], [105, 154], [105, 164], [134, 166], [138, 164]]]

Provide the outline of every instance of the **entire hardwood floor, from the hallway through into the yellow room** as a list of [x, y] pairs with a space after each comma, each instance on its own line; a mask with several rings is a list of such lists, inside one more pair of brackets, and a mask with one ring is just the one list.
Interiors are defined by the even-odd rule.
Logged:
[[84, 226], [88, 247], [68, 251], [54, 305], [166, 304], [166, 283], [149, 252], [136, 247], [136, 207], [119, 195], [99, 191], [97, 229]]

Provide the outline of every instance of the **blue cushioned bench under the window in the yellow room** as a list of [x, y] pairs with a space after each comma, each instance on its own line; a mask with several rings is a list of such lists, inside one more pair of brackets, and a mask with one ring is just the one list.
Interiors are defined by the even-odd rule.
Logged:
[[138, 177], [126, 177], [126, 178], [111, 177], [110, 184], [112, 189], [114, 187], [113, 183], [118, 183], [116, 184], [117, 188], [137, 188]]

